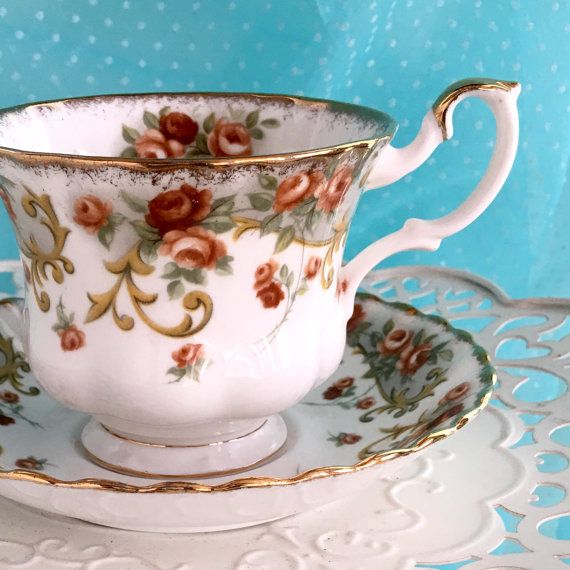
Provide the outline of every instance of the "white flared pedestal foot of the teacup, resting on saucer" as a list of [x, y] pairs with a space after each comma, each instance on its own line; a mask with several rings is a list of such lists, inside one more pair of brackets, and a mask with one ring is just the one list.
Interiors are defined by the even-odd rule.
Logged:
[[252, 426], [249, 433], [200, 445], [142, 442], [114, 433], [91, 419], [81, 434], [87, 457], [124, 475], [152, 479], [221, 477], [247, 471], [275, 456], [287, 439], [279, 415]]

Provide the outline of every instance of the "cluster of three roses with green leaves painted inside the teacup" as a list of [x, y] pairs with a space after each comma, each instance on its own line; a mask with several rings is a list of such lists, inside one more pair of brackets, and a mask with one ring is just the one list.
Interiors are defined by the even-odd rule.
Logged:
[[227, 115], [210, 113], [200, 124], [180, 110], [164, 107], [156, 115], [145, 111], [142, 133], [123, 125], [123, 139], [129, 144], [123, 158], [200, 158], [208, 156], [250, 156], [253, 140], [261, 140], [266, 129], [281, 123], [267, 117], [260, 120], [259, 110], [244, 112], [228, 109]]

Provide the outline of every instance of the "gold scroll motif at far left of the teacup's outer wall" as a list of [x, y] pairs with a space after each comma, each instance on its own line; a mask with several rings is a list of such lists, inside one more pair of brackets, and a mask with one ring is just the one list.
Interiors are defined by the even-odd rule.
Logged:
[[51, 250], [46, 251], [33, 234], [20, 236], [22, 254], [30, 260], [30, 278], [36, 302], [38, 307], [47, 313], [51, 300], [43, 288], [44, 282], [49, 280], [48, 270], [51, 269], [51, 277], [59, 285], [63, 283], [65, 273], [72, 274], [75, 271], [73, 263], [62, 255], [69, 229], [59, 223], [48, 195], [38, 196], [30, 188], [24, 186], [24, 189], [24, 211], [30, 218], [39, 218], [40, 224], [47, 228], [53, 239]]

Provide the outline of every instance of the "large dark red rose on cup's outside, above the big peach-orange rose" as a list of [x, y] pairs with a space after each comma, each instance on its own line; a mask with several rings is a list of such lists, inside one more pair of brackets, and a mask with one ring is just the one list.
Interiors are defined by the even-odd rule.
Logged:
[[212, 192], [198, 190], [190, 184], [162, 192], [148, 203], [146, 222], [159, 234], [186, 230], [201, 222], [212, 209]]

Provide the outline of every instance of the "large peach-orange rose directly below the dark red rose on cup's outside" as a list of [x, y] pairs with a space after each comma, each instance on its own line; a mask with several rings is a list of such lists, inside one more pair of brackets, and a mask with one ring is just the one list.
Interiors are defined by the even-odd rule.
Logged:
[[170, 255], [180, 267], [188, 269], [214, 269], [218, 259], [227, 254], [226, 244], [216, 239], [214, 232], [200, 226], [167, 232], [163, 240], [159, 253]]

